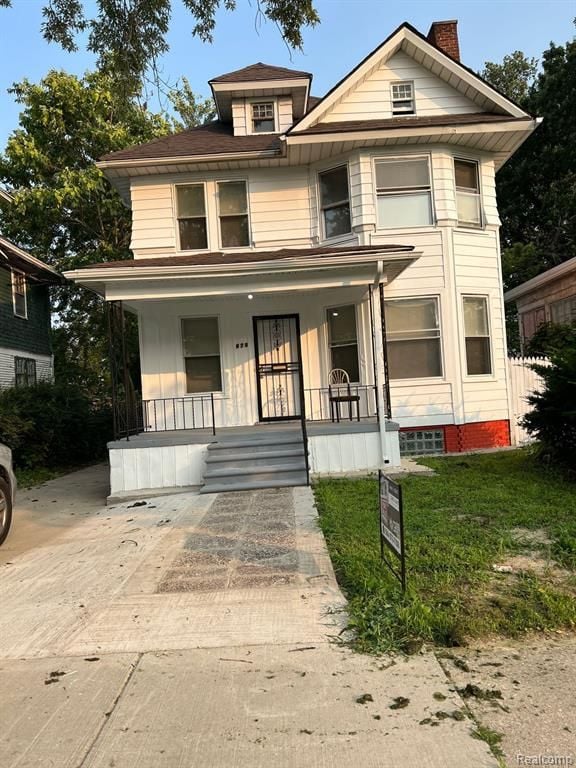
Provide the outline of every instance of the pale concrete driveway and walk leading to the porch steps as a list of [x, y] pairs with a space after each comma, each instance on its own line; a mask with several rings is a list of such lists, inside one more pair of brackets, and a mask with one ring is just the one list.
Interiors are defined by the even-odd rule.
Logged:
[[3, 768], [497, 765], [432, 654], [330, 642], [344, 599], [309, 489], [106, 493], [95, 467], [19, 497], [0, 549]]

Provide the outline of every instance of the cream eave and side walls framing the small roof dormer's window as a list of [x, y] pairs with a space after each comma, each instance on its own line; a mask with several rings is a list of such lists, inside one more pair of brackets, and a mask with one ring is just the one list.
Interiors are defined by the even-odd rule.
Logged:
[[218, 117], [224, 122], [232, 120], [233, 99], [292, 96], [294, 118], [306, 112], [310, 92], [310, 78], [286, 78], [283, 80], [249, 80], [239, 83], [210, 82]]

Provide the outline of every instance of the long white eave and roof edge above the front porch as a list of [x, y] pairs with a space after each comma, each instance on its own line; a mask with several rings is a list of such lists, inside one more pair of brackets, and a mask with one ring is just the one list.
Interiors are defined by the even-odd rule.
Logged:
[[382, 249], [369, 254], [348, 249], [342, 255], [299, 256], [239, 264], [90, 267], [65, 272], [107, 301], [234, 296], [390, 283], [422, 254]]

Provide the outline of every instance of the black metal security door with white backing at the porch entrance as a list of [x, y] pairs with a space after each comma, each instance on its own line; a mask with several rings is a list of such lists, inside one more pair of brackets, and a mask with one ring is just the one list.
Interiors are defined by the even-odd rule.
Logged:
[[298, 315], [254, 318], [258, 418], [300, 418], [301, 355]]

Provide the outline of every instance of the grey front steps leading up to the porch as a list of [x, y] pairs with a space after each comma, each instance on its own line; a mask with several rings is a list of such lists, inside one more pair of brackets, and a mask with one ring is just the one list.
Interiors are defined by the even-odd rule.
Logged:
[[299, 429], [249, 437], [223, 437], [208, 447], [200, 493], [306, 485]]

